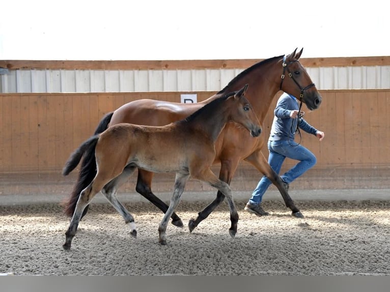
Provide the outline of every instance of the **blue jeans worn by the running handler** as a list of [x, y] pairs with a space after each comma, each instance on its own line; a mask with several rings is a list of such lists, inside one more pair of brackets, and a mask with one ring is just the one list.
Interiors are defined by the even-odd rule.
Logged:
[[[312, 152], [294, 141], [268, 141], [268, 151], [268, 163], [277, 174], [279, 174], [286, 157], [299, 160], [294, 167], [281, 176], [282, 180], [288, 184], [312, 168], [317, 162], [317, 158]], [[254, 205], [261, 203], [263, 195], [270, 185], [271, 181], [263, 176], [253, 191], [249, 203]]]

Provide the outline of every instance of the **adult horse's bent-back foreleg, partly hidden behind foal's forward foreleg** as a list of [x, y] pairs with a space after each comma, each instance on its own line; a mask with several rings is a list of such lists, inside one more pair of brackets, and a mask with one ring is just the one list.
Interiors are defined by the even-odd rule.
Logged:
[[[223, 160], [221, 161], [221, 169], [219, 171], [219, 180], [230, 184], [234, 173], [237, 169], [238, 160]], [[192, 232], [199, 223], [205, 220], [211, 212], [225, 199], [225, 195], [218, 190], [216, 198], [205, 209], [198, 213], [197, 219], [191, 218], [188, 222], [189, 232]]]

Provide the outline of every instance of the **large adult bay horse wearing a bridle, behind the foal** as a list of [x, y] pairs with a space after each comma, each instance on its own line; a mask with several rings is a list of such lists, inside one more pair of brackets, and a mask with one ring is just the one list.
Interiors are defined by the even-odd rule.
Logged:
[[[312, 82], [305, 68], [300, 64], [299, 58], [303, 48], [297, 52], [295, 49], [288, 55], [280, 55], [263, 60], [238, 74], [228, 85], [206, 99], [194, 104], [182, 104], [165, 101], [142, 99], [129, 102], [110, 112], [100, 121], [95, 134], [103, 132], [108, 127], [119, 123], [131, 123], [137, 125], [163, 126], [171, 122], [186, 118], [205, 104], [229, 92], [239, 90], [244, 84], [249, 84], [247, 98], [252, 104], [259, 121], [264, 126], [264, 119], [271, 105], [272, 99], [280, 90], [297, 97], [311, 110], [317, 109], [321, 104], [321, 95]], [[230, 184], [237, 166], [241, 160], [245, 160], [256, 167], [262, 175], [265, 175], [280, 191], [286, 207], [290, 208], [292, 215], [303, 217], [300, 210], [294, 205], [285, 183], [272, 170], [267, 159], [261, 152], [267, 137], [261, 135], [259, 139], [251, 139], [246, 130], [228, 124], [215, 143], [216, 156], [214, 164], [220, 163], [219, 179]], [[65, 214], [72, 216], [78, 196], [96, 175], [95, 149], [92, 147], [85, 154], [77, 182], [72, 193], [65, 202]], [[123, 177], [123, 179], [125, 179]], [[138, 169], [136, 191], [151, 201], [162, 212], [168, 210], [168, 206], [152, 192], [153, 172]], [[224, 200], [225, 196], [220, 191], [216, 198], [204, 210], [198, 213], [196, 219], [188, 223], [192, 231], [198, 224]], [[88, 207], [83, 215], [86, 214]], [[183, 226], [176, 213], [172, 214], [172, 224]]]

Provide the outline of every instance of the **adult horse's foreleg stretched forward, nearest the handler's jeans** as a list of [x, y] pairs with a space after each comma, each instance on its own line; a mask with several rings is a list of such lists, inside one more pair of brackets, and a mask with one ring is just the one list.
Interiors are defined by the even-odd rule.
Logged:
[[280, 191], [283, 200], [285, 201], [285, 205], [287, 208], [290, 208], [292, 211], [292, 215], [297, 218], [303, 218], [303, 214], [299, 211], [297, 207], [295, 207], [293, 200], [291, 199], [287, 184], [281, 179], [281, 177], [272, 169], [269, 165], [268, 161], [265, 159], [263, 153], [258, 150], [247, 158], [244, 159], [249, 162], [253, 166], [255, 166], [264, 176], [266, 176], [273, 185]]

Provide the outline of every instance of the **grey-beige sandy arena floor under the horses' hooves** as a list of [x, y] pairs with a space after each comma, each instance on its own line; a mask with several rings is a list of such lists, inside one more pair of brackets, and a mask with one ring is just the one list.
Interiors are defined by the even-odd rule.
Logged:
[[183, 228], [169, 224], [158, 243], [162, 213], [147, 202], [126, 203], [138, 235], [106, 203], [91, 204], [71, 250], [69, 219], [58, 203], [0, 206], [0, 273], [15, 275], [390, 275], [390, 202], [296, 201], [303, 219], [280, 200], [257, 217], [236, 201], [237, 235], [229, 236], [224, 202], [190, 233], [188, 220], [207, 202], [182, 201]]

